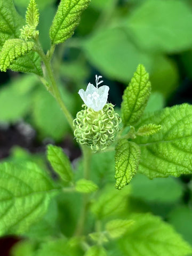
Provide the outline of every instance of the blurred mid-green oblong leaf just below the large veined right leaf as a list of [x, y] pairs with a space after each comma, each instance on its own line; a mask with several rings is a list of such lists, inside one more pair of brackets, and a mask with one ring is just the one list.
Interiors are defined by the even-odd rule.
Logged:
[[151, 203], [178, 202], [183, 194], [182, 183], [173, 177], [150, 180], [137, 173], [131, 182], [131, 196]]

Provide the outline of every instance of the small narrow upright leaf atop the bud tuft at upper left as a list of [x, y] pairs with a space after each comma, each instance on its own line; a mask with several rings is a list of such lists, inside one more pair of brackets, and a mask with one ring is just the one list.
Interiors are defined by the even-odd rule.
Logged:
[[39, 11], [35, 0], [30, 0], [26, 12], [26, 22], [30, 27], [36, 27], [39, 23]]

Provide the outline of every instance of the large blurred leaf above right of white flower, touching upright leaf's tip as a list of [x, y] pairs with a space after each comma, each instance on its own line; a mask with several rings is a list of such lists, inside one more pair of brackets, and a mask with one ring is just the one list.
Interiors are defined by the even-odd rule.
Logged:
[[91, 64], [110, 79], [127, 83], [139, 63], [151, 69], [152, 59], [121, 29], [101, 29], [83, 41], [82, 47]]

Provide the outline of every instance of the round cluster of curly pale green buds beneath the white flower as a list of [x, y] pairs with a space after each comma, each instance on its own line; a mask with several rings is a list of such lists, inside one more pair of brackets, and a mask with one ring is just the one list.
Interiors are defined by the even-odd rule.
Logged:
[[77, 113], [73, 123], [77, 142], [90, 146], [94, 152], [105, 150], [115, 140], [121, 117], [111, 103], [107, 103], [99, 111], [86, 105], [82, 107], [84, 109]]

